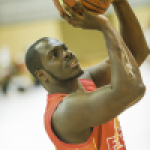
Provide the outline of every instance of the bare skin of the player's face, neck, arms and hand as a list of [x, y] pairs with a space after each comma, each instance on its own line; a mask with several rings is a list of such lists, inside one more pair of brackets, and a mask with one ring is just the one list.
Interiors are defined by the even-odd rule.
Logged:
[[[49, 94], [69, 94], [52, 116], [55, 134], [67, 143], [85, 142], [92, 132], [92, 127], [112, 120], [143, 97], [145, 86], [138, 67], [148, 56], [141, 27], [126, 0], [113, 1], [119, 16], [122, 37], [105, 16], [87, 11], [79, 2], [76, 2], [76, 6], [81, 10], [82, 16], [67, 6], [65, 8], [72, 17], [64, 14], [61, 16], [74, 27], [101, 31], [109, 58], [84, 70], [81, 75], [79, 63], [71, 65], [77, 60], [72, 59], [74, 54], [68, 49], [66, 51], [61, 42], [47, 39], [42, 42], [45, 46], [37, 47], [47, 70], [61, 79], [75, 77], [71, 81], [62, 82], [54, 79], [45, 70], [36, 71]], [[129, 16], [132, 24], [128, 20]], [[44, 48], [46, 46], [49, 47], [47, 50]], [[56, 51], [56, 54], [47, 55], [50, 51]], [[70, 63], [66, 66], [68, 59]], [[99, 88], [87, 93], [79, 82], [78, 75], [81, 75], [79, 78], [93, 80]]]

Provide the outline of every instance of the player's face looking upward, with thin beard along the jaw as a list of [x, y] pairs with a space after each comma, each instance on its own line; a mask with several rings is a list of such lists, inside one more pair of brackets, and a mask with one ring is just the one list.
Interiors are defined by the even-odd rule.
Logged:
[[56, 39], [47, 38], [41, 41], [36, 50], [41, 55], [45, 70], [59, 81], [69, 81], [83, 73], [74, 53]]

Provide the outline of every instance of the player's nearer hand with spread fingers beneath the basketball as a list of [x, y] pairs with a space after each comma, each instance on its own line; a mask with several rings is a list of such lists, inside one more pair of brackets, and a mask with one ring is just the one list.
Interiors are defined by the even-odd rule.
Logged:
[[70, 16], [64, 13], [60, 14], [63, 19], [74, 27], [102, 30], [105, 22], [108, 21], [105, 16], [88, 11], [79, 0], [76, 0], [75, 8], [77, 11], [65, 5], [64, 9], [69, 12]]

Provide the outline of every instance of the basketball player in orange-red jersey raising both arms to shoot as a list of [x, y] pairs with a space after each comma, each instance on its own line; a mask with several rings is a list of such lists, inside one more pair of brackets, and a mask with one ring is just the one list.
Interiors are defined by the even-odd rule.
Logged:
[[[125, 150], [117, 116], [144, 95], [140, 66], [148, 56], [141, 27], [126, 0], [113, 6], [122, 38], [109, 20], [87, 11], [61, 14], [74, 27], [101, 31], [109, 58], [82, 70], [75, 54], [53, 38], [42, 38], [27, 52], [26, 64], [48, 91], [45, 129], [57, 150]], [[132, 24], [130, 23], [132, 20]]]

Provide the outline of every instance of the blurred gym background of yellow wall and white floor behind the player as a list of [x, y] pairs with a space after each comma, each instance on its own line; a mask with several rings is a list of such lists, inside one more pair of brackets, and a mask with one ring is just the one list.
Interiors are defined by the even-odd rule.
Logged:
[[[150, 1], [129, 3], [150, 46]], [[111, 6], [105, 15], [118, 30]], [[102, 34], [68, 25], [52, 0], [0, 0], [0, 150], [54, 150], [43, 124], [47, 92], [24, 64], [27, 48], [41, 37], [67, 43], [83, 68], [108, 56]], [[140, 69], [146, 94], [119, 116], [127, 150], [150, 150], [150, 57]]]

